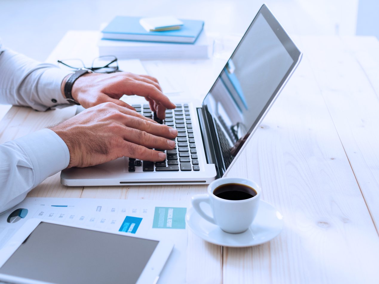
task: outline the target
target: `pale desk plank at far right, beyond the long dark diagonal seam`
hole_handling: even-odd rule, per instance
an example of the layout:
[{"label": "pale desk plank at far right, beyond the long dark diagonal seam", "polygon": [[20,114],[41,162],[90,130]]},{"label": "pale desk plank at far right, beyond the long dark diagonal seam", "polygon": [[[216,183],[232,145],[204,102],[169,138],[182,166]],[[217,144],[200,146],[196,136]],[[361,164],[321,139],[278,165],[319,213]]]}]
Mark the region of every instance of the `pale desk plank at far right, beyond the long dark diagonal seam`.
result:
[{"label": "pale desk plank at far right, beyond the long dark diagonal seam", "polygon": [[[303,39],[346,155],[379,229],[379,42],[375,37]],[[330,68],[333,62],[333,68]]]}]

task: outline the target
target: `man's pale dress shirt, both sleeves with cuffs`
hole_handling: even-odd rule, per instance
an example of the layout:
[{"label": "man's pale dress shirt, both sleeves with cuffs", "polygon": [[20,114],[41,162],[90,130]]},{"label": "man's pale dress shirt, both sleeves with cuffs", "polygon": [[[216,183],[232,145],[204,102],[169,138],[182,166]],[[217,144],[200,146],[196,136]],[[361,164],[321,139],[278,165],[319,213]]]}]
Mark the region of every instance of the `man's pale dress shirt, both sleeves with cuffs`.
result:
[{"label": "man's pale dress shirt, both sleeves with cuffs", "polygon": [[[45,111],[66,104],[61,83],[67,71],[2,47],[0,103]],[[21,202],[47,177],[63,170],[70,154],[63,140],[43,129],[0,145],[0,214]]]}]

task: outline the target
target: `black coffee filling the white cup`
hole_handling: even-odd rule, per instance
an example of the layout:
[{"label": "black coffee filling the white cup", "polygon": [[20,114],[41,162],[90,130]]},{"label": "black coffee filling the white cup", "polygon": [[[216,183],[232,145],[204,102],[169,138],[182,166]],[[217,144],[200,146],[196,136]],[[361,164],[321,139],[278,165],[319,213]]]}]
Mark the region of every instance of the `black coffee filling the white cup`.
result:
[{"label": "black coffee filling the white cup", "polygon": [[254,188],[240,183],[227,183],[216,187],[213,194],[227,200],[244,200],[257,195]]}]

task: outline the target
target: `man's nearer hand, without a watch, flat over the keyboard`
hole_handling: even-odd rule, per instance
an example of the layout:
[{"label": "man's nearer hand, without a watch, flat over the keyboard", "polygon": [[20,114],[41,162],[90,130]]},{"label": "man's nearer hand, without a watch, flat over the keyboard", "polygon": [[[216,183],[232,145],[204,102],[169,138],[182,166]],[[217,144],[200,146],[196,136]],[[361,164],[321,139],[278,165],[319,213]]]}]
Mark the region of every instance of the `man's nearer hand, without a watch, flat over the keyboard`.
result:
[{"label": "man's nearer hand, without a watch, flat over the keyboard", "polygon": [[120,157],[163,161],[172,150],[178,131],[144,117],[136,111],[102,103],[50,127],[66,143],[68,167],[88,167]]}]

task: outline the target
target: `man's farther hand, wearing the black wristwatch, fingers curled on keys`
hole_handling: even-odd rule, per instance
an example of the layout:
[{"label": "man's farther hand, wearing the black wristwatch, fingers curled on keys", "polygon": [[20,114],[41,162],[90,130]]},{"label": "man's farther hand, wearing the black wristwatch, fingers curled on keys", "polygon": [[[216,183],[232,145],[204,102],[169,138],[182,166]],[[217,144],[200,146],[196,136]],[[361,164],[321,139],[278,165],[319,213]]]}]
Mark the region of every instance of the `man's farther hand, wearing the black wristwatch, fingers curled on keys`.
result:
[{"label": "man's farther hand, wearing the black wristwatch, fingers curled on keys", "polygon": [[[66,80],[67,78],[63,86]],[[148,75],[136,75],[129,72],[89,73],[79,77],[72,86],[72,97],[84,108],[110,101],[133,109],[119,100],[124,94],[145,97],[151,110],[157,112],[160,119],[165,118],[166,109],[175,108],[169,98],[162,93],[158,80]]]}]

